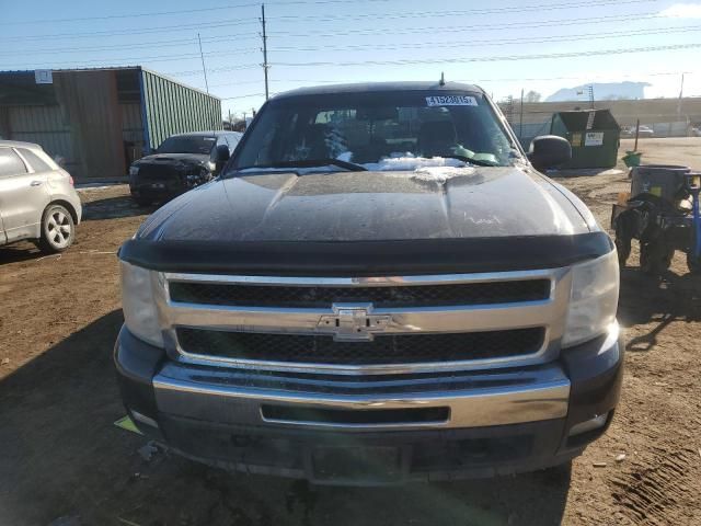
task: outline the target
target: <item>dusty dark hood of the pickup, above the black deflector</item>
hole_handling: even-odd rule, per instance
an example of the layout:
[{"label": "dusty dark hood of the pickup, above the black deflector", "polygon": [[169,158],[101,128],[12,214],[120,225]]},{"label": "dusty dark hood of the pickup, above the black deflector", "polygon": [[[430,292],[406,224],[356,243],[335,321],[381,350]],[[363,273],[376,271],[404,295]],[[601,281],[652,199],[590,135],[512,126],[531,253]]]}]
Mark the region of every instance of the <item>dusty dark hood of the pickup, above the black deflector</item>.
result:
[{"label": "dusty dark hood of the pickup, above the black deflector", "polygon": [[221,179],[157,210],[139,239],[386,241],[571,236],[598,230],[529,167],[267,172]]}]

